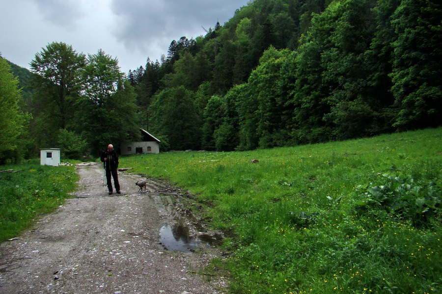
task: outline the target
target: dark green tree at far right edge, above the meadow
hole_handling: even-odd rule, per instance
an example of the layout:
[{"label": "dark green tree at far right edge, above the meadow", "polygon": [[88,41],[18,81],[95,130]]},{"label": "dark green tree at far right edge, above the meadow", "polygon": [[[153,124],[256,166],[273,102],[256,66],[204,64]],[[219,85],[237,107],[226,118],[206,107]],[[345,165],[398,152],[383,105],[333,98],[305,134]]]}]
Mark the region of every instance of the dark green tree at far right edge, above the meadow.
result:
[{"label": "dark green tree at far right edge, above the meadow", "polygon": [[442,3],[403,0],[393,14],[392,92],[400,129],[441,125]]}]

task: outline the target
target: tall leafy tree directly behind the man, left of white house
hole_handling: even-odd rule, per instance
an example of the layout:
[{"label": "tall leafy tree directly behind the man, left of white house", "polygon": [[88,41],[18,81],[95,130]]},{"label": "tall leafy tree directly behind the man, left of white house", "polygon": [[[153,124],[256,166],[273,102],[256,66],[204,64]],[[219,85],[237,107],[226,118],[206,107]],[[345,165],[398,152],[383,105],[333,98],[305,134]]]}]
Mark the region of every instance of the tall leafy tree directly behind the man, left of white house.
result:
[{"label": "tall leafy tree directly behind the man, left of white house", "polygon": [[100,49],[89,54],[84,75],[86,90],[78,104],[76,130],[92,152],[139,137],[134,89],[123,79],[118,60]]}]

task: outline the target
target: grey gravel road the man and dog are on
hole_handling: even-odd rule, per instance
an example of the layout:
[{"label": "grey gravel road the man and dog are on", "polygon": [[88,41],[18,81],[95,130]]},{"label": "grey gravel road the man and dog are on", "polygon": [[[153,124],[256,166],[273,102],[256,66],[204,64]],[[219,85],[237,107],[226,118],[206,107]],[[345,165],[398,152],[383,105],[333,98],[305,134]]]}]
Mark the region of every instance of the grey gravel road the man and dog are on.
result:
[{"label": "grey gravel road the man and dog are on", "polygon": [[215,249],[185,253],[159,243],[160,228],[186,201],[180,190],[148,180],[138,192],[140,176],[119,172],[122,194],[108,195],[101,164],[77,172],[74,198],[0,245],[0,294],[225,293],[222,277],[204,274]]}]

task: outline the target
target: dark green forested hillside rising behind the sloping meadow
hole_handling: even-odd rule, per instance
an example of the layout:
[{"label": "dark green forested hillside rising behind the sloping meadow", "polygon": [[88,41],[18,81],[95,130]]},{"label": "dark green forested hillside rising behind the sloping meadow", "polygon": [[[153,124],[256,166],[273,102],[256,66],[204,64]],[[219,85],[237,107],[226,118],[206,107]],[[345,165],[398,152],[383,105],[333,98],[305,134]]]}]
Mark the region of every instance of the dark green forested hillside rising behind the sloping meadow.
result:
[{"label": "dark green forested hillside rising behind the sloping meadow", "polygon": [[441,124],[436,0],[255,0],[129,73],[173,149],[245,150]]}]

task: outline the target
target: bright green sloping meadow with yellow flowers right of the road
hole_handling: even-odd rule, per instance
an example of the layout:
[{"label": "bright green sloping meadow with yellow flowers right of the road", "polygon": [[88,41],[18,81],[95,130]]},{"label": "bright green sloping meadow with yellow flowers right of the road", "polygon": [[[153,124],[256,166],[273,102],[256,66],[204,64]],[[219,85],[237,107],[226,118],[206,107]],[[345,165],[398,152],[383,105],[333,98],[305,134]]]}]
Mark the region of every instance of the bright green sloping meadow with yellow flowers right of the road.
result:
[{"label": "bright green sloping meadow with yellow flowers right of the road", "polygon": [[442,292],[442,128],[120,167],[190,190],[228,232],[230,293]]}]

